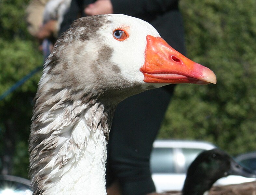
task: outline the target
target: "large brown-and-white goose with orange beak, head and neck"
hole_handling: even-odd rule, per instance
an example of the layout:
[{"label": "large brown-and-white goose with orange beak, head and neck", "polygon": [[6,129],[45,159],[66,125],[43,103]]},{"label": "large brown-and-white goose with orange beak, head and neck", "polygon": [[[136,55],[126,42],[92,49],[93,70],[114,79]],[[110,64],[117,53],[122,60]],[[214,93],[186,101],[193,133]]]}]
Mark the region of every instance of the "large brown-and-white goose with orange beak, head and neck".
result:
[{"label": "large brown-and-white goose with orange beak, head and neck", "polygon": [[116,105],[174,83],[215,84],[216,76],[141,19],[113,14],[75,20],[47,58],[35,96],[29,137],[33,195],[105,195]]}]

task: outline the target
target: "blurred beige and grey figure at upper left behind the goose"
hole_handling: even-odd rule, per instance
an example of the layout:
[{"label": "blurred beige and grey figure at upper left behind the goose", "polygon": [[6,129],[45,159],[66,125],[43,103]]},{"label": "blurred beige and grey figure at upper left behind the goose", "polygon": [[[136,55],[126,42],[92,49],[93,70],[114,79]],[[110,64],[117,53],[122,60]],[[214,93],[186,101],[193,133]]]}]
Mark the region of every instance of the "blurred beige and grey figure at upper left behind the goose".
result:
[{"label": "blurred beige and grey figure at upper left behind the goose", "polygon": [[60,24],[71,0],[32,0],[26,9],[28,31],[39,41],[46,59],[57,40]]}]

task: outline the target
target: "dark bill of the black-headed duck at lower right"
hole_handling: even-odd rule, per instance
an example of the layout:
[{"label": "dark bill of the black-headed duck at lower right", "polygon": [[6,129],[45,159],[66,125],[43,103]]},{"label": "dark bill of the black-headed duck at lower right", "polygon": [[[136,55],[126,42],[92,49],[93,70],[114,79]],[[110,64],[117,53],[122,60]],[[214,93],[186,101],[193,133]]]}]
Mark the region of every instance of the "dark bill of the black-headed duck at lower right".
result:
[{"label": "dark bill of the black-headed duck at lower right", "polygon": [[243,177],[256,177],[256,172],[245,168],[238,164],[235,161],[231,161],[230,170],[228,171],[228,175],[240,175]]}]

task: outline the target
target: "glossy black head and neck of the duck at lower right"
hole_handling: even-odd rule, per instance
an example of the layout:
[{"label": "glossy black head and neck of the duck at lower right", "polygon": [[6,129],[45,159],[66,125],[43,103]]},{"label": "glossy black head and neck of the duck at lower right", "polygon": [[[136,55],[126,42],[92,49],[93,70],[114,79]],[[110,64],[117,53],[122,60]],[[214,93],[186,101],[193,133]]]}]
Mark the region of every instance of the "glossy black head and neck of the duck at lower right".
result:
[{"label": "glossy black head and neck of the duck at lower right", "polygon": [[[205,150],[189,166],[182,191],[167,192],[165,195],[207,195],[218,179],[228,175],[255,178],[256,172],[241,166],[221,149]],[[218,186],[218,189],[220,188],[223,190],[226,186]]]}]

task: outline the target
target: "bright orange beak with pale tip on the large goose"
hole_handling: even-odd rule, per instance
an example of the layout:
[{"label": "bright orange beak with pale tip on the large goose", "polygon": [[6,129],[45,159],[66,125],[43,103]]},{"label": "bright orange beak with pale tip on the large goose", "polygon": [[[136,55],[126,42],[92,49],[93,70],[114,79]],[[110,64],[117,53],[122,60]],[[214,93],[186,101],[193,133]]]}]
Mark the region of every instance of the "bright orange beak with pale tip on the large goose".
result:
[{"label": "bright orange beak with pale tip on the large goose", "polygon": [[216,84],[215,74],[169,46],[161,37],[147,35],[145,63],[140,71],[146,83]]}]

